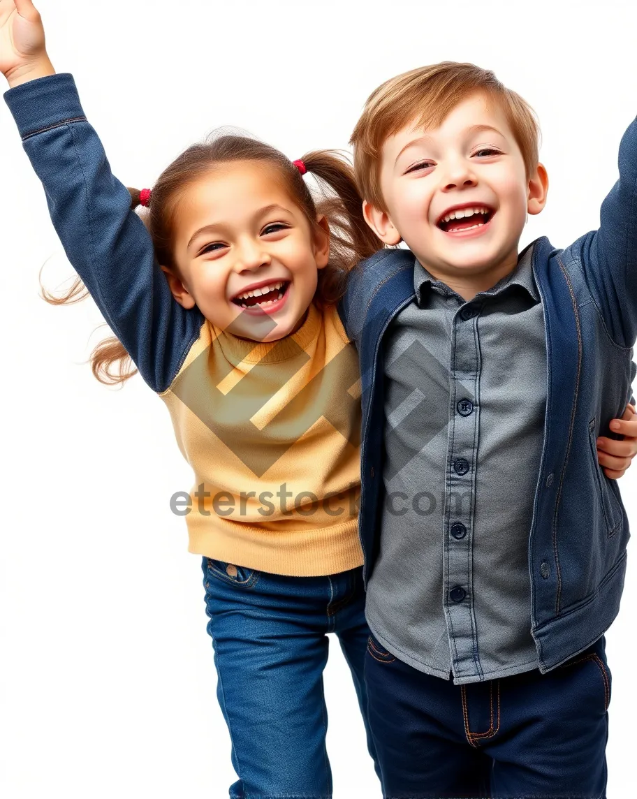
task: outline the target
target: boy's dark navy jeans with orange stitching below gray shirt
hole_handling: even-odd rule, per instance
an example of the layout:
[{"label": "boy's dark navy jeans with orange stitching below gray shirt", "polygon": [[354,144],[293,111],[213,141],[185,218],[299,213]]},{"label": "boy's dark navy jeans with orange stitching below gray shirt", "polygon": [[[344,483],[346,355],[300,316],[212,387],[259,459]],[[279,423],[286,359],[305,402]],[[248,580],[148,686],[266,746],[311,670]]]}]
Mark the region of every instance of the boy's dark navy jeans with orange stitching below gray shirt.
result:
[{"label": "boy's dark navy jeans with orange stitching below gray shirt", "polygon": [[604,638],[562,666],[456,686],[370,636],[369,724],[388,799],[603,799]]}]

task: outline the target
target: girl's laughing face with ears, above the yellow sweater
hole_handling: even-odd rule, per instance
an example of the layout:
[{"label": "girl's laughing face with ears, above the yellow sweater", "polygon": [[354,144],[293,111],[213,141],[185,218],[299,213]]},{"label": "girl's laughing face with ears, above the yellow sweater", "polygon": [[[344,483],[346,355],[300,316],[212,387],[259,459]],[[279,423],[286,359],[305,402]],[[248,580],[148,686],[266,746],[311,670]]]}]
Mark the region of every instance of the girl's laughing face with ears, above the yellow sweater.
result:
[{"label": "girl's laughing face with ears, above the yellow sweater", "polygon": [[328,226],[321,218],[312,228],[272,165],[215,165],[185,189],[173,235],[179,274],[162,268],[185,308],[254,341],[301,327],[328,263]]}]

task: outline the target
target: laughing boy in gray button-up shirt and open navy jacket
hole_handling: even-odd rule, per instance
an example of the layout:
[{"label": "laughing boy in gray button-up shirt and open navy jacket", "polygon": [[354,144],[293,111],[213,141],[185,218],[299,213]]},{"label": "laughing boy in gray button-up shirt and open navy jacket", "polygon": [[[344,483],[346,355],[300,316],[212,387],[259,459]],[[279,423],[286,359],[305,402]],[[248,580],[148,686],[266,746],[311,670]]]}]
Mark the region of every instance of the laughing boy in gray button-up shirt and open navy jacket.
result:
[{"label": "laughing boy in gray button-up shirt and open navy jacket", "polygon": [[635,377],[637,122],[599,231],[519,253],[547,197],[537,138],[521,97],[452,62],[381,85],[352,134],[368,224],[409,248],[344,301],[387,797],[606,786],[603,633],[629,532],[595,438]]}]

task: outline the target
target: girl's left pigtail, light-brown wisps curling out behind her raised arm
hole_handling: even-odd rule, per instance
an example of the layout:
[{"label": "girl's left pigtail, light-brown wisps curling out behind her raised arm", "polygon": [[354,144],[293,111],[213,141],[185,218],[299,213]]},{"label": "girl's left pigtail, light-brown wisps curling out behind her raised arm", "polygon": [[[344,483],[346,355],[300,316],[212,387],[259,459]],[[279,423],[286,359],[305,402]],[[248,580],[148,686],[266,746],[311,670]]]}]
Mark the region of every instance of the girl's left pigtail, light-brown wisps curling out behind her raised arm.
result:
[{"label": "girl's left pigtail, light-brown wisps curling out behind her raised arm", "polygon": [[[141,205],[139,199],[139,189],[129,189],[130,193],[130,208],[134,210],[138,205]],[[42,267],[43,268],[43,267]],[[45,302],[50,305],[72,305],[77,302],[86,300],[89,296],[89,290],[84,285],[81,277],[76,277],[71,284],[70,289],[66,294],[54,295],[44,287],[41,280],[42,269],[38,275],[38,283],[40,284],[40,296]],[[89,359],[85,363],[91,365],[91,371],[94,377],[100,383],[105,385],[117,385],[124,383],[129,377],[133,377],[139,371],[133,366],[133,359],[129,356],[126,348],[117,336],[109,336],[97,344],[91,352]],[[117,364],[116,371],[113,371],[113,364]]]}]

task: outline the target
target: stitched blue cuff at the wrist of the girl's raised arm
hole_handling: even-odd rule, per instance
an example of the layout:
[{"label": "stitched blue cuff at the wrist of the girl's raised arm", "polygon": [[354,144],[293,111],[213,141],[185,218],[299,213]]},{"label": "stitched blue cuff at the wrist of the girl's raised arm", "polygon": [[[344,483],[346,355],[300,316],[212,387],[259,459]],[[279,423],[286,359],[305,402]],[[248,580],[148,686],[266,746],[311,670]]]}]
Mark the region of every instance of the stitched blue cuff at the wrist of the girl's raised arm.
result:
[{"label": "stitched blue cuff at the wrist of the girl's raised arm", "polygon": [[3,94],[22,140],[34,133],[86,119],[73,75],[62,72],[26,81]]}]

